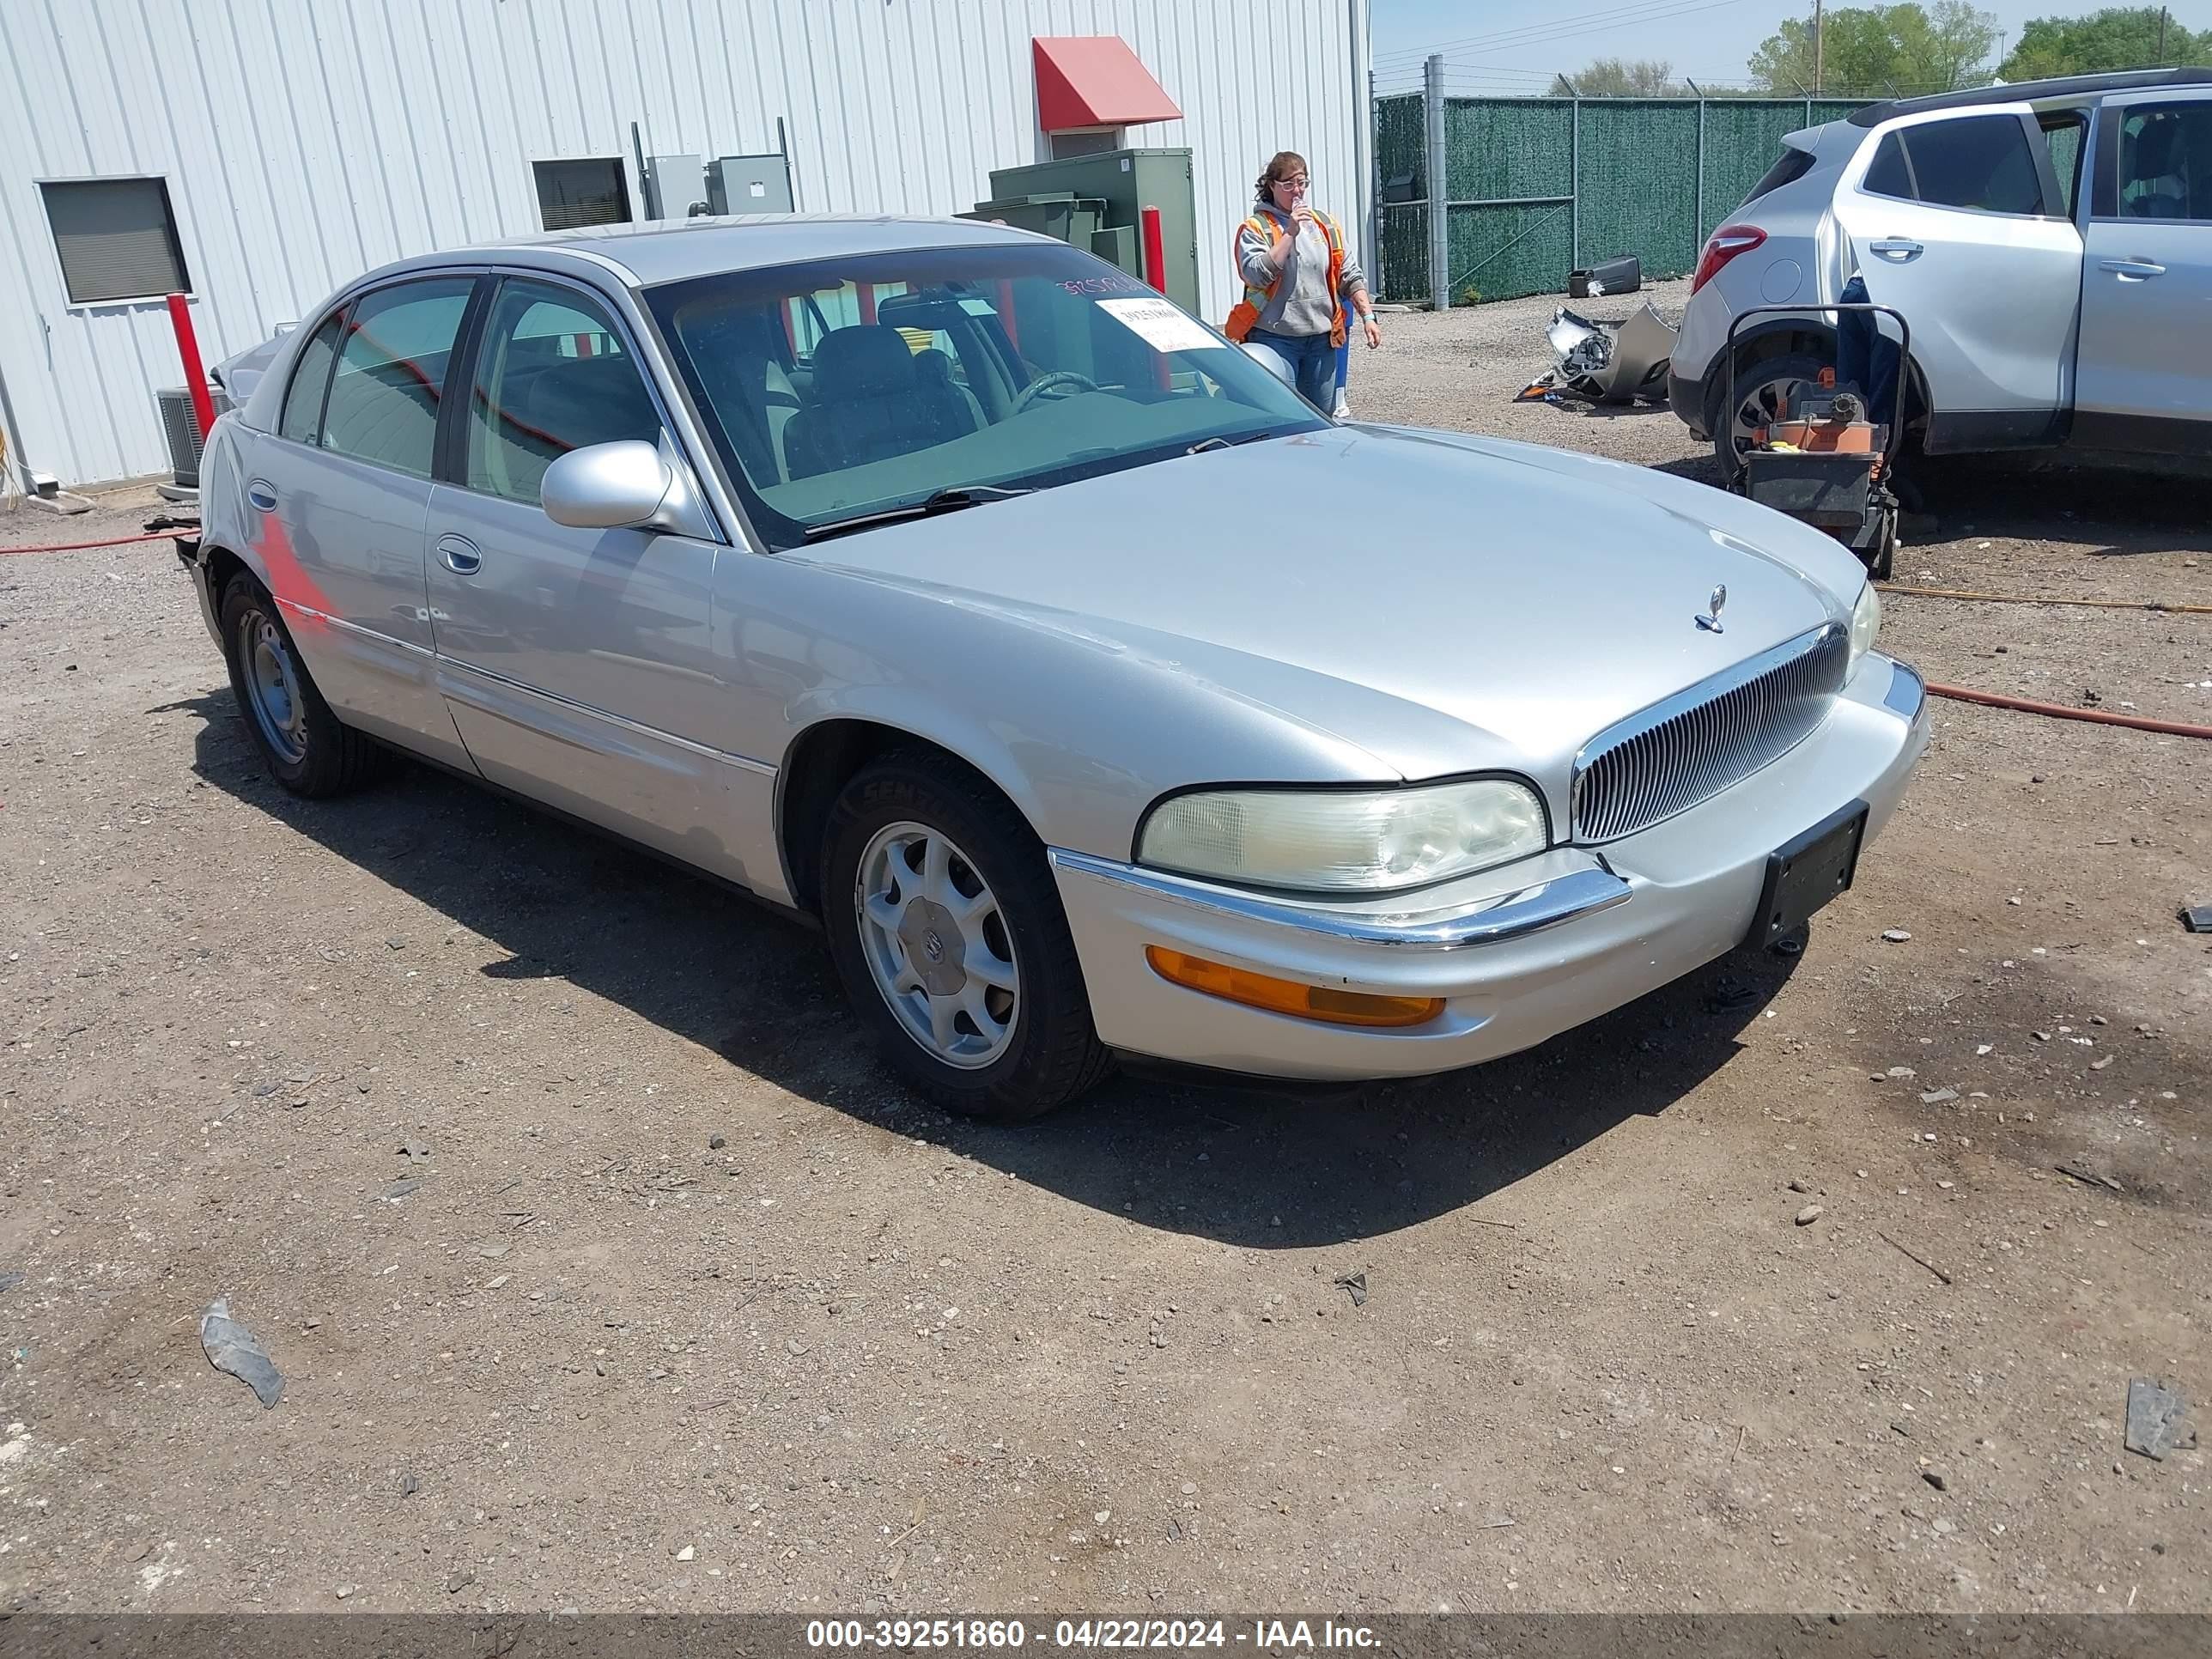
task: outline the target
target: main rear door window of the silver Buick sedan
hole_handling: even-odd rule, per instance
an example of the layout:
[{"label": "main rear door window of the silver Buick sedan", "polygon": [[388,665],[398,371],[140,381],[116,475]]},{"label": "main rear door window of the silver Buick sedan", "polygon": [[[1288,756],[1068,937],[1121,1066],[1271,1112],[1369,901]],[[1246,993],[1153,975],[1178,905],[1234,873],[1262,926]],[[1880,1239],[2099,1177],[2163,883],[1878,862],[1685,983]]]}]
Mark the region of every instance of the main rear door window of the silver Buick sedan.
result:
[{"label": "main rear door window of the silver Buick sedan", "polygon": [[323,449],[429,478],[438,400],[473,276],[378,288],[345,319]]}]

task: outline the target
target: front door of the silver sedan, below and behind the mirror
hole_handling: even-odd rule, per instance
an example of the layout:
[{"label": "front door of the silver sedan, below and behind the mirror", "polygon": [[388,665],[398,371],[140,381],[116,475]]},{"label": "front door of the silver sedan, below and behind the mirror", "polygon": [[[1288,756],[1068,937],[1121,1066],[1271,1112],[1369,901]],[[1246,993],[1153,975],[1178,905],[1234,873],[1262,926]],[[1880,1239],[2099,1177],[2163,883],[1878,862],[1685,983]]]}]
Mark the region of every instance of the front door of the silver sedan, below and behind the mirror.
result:
[{"label": "front door of the silver sedan, below and behind the mirror", "polygon": [[562,281],[504,279],[451,482],[429,500],[438,684],[493,783],[757,883],[728,832],[768,803],[772,768],[726,750],[710,595],[728,549],[568,529],[538,504],[555,458],[622,438],[684,467],[606,305]]}]

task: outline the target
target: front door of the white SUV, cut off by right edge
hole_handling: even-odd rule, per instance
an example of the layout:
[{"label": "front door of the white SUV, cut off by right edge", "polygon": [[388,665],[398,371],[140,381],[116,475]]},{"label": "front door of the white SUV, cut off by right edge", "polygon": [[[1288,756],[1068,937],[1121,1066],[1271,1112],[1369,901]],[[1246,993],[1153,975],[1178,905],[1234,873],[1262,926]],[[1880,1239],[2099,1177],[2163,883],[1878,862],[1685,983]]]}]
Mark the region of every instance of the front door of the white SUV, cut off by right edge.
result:
[{"label": "front door of the white SUV, cut off by right edge", "polygon": [[2212,453],[2212,93],[2099,113],[2075,442]]}]

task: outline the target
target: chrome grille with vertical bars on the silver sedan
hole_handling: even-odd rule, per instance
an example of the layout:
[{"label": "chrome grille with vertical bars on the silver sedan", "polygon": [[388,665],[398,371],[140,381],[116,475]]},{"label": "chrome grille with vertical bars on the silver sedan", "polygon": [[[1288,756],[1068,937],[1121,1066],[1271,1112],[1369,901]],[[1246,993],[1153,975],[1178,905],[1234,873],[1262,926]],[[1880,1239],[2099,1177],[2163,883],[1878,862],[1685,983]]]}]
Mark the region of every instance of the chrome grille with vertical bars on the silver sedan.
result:
[{"label": "chrome grille with vertical bars on the silver sedan", "polygon": [[1599,732],[1575,759],[1575,838],[1632,836],[1778,761],[1827,719],[1849,657],[1829,624]]}]

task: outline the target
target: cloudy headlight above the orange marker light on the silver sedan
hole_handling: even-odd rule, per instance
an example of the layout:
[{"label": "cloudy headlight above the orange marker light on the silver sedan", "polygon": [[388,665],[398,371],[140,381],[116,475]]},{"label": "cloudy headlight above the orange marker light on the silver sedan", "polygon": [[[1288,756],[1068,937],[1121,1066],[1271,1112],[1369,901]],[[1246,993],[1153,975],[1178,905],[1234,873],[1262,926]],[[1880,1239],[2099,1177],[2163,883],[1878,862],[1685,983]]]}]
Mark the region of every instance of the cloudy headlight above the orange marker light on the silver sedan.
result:
[{"label": "cloudy headlight above the orange marker light on the silver sedan", "polygon": [[1544,803],[1506,779],[1413,790],[1210,790],[1155,807],[1137,860],[1245,887],[1389,894],[1524,858],[1546,843]]}]

